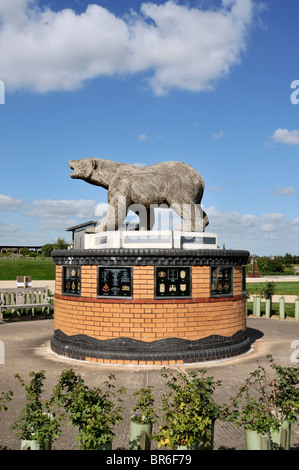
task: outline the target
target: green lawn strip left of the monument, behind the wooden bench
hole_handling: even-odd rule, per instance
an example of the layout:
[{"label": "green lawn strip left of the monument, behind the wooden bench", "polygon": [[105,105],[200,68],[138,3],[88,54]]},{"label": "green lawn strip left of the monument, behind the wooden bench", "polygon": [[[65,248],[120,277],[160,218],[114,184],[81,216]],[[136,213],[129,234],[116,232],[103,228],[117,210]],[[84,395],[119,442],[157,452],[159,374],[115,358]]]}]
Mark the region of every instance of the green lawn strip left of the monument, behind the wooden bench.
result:
[{"label": "green lawn strip left of the monument, behind the wooden bench", "polygon": [[17,276],[52,281],[55,280],[55,265],[52,258],[0,258],[0,281],[15,281]]}]

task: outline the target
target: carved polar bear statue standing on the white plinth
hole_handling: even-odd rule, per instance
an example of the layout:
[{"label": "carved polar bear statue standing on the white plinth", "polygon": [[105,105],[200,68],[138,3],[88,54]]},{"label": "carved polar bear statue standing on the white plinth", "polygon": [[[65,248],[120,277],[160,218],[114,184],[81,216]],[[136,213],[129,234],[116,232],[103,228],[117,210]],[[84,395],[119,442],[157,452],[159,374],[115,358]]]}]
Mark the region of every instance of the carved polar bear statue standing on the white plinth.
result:
[{"label": "carved polar bear statue standing on the white plinth", "polygon": [[[202,176],[183,162],[163,162],[137,167],[100,158],[71,160],[70,176],[108,190],[108,210],[97,231],[117,230],[129,210],[140,217],[140,230],[151,230],[153,209],[171,207],[179,214],[185,231],[203,232],[208,217],[200,203]],[[145,210],[145,216],[143,209]]]}]

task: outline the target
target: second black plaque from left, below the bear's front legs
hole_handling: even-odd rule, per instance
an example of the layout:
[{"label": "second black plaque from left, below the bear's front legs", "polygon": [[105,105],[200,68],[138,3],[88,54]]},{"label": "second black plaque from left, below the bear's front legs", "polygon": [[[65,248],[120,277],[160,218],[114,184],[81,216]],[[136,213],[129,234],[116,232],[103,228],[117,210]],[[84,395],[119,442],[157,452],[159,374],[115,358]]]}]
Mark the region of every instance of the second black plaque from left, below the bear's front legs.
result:
[{"label": "second black plaque from left, below the bear's front legs", "polygon": [[131,267],[99,267],[99,297],[132,297]]}]

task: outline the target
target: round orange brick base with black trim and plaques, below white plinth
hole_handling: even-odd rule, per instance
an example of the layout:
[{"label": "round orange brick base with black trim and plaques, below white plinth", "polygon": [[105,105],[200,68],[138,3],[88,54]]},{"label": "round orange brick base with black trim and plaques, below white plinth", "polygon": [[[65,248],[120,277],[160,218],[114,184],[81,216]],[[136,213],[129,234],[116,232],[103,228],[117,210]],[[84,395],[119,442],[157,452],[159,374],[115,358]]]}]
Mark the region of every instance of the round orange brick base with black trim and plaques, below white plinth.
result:
[{"label": "round orange brick base with black trim and plaques, below white plinth", "polygon": [[51,348],[61,356],[170,365],[231,358],[250,349],[247,251],[84,249],[52,256]]}]

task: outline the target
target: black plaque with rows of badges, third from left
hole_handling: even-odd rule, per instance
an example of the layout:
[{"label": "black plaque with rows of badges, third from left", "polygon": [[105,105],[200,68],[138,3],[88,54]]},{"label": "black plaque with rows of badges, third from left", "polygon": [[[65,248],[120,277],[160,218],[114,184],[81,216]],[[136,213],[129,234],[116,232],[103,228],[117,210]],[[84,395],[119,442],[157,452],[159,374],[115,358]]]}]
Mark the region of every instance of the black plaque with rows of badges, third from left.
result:
[{"label": "black plaque with rows of badges, third from left", "polygon": [[156,267],[155,297],[191,297],[191,268]]}]

